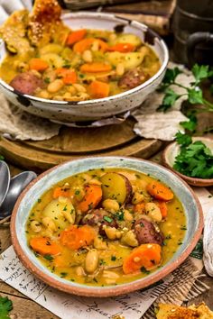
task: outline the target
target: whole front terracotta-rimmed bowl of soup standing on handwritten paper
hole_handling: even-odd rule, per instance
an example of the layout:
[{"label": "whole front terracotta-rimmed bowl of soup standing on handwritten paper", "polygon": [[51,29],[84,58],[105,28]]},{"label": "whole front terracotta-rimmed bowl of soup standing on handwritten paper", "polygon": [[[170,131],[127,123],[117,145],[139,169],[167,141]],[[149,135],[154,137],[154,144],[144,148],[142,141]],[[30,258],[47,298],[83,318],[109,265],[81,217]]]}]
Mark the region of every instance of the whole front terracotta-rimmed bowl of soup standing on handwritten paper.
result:
[{"label": "whole front terracotta-rimmed bowl of soup standing on handwritten paper", "polygon": [[150,286],[199,240],[202,210],[190,187],[146,160],[96,157],[43,173],[12,214],[14,250],[52,287],[118,296]]}]

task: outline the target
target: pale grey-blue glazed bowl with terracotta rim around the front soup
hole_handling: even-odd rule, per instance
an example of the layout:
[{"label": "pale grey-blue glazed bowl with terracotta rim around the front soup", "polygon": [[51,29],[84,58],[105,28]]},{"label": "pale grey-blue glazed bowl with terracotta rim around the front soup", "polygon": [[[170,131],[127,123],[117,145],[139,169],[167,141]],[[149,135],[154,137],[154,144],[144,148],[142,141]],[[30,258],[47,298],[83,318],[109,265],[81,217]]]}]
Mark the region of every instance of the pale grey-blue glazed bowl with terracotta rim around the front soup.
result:
[{"label": "pale grey-blue glazed bowl with terracotta rim around the front soup", "polygon": [[[171,260],[147,277],[117,286],[88,287],[60,278],[42,266],[42,263],[36,259],[27,244],[24,225],[35,201],[52,185],[73,174],[78,174],[88,169],[100,168],[134,169],[150,174],[154,178],[161,179],[162,182],[171,187],[176,196],[181,200],[188,227],[182,245],[179,250],[175,252]],[[27,269],[30,269],[35,276],[52,287],[79,296],[97,297],[123,295],[147,287],[165,277],[189,256],[199,240],[202,228],[203,215],[199,200],[181,178],[174,175],[169,169],[164,169],[162,166],[150,161],[121,157],[91,157],[73,160],[47,170],[33,180],[30,186],[23,191],[23,194],[14,206],[11,220],[11,236],[14,250]]]}]

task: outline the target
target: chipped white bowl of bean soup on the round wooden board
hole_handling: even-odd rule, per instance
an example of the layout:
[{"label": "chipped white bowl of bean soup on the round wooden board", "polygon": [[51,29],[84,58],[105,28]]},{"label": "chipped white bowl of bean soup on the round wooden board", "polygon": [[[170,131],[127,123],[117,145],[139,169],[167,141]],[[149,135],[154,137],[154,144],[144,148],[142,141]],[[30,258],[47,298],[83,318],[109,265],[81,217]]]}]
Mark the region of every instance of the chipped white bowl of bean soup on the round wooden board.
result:
[{"label": "chipped white bowl of bean soup on the round wooden board", "polygon": [[[38,44],[29,17],[25,10],[14,13],[0,43],[0,88],[26,112],[63,123],[107,118],[141,105],[162,81],[168,50],[143,23],[113,14],[63,14],[59,30],[52,32],[51,24],[51,36]],[[9,37],[13,21],[22,22],[19,46]]]}]

